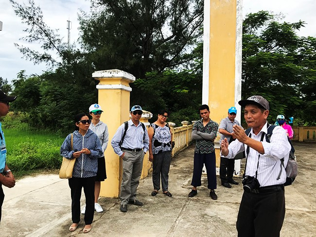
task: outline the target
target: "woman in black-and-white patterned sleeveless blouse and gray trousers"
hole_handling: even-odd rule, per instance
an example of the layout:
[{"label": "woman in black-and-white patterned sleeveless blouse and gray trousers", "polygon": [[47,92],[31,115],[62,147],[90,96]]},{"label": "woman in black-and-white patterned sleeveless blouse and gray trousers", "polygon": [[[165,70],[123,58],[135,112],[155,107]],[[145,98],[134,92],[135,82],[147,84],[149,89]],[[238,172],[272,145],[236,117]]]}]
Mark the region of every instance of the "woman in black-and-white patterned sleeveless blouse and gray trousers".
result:
[{"label": "woman in black-and-white patterned sleeveless blouse and gray trousers", "polygon": [[169,169],[171,162],[172,151],[172,135],[170,127],[166,120],[168,118],[168,111],[161,110],[158,113],[156,122],[150,124],[148,128],[149,135],[149,161],[153,162],[153,185],[154,191],[152,196],[156,196],[160,189],[160,175],[161,186],[163,194],[172,197],[168,191]]}]

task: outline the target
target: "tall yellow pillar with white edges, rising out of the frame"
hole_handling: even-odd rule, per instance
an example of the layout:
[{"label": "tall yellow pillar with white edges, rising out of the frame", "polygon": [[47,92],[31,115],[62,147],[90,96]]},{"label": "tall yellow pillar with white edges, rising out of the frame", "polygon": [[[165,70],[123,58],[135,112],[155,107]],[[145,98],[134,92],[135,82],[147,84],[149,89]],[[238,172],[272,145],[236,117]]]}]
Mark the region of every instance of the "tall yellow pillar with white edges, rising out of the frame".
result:
[{"label": "tall yellow pillar with white edges, rising out of the frame", "polygon": [[[227,117],[231,106],[237,108],[236,118],[240,121],[242,26],[242,0],[204,1],[202,103],[210,106],[210,117],[218,124]],[[220,134],[217,136],[219,166]],[[240,172],[239,161],[235,170]]]}]

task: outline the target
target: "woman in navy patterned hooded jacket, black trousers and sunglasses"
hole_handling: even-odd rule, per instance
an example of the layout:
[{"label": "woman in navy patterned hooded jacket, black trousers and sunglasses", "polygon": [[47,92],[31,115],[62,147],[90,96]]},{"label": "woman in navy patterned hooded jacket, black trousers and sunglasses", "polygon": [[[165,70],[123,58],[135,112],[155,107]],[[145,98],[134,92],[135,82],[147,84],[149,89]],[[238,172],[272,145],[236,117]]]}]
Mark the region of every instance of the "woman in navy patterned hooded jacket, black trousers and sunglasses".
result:
[{"label": "woman in navy patterned hooded jacket, black trousers and sunglasses", "polygon": [[74,117],[76,130],[61,145],[60,154],[67,159],[76,159],[69,179],[71,189],[72,224],[69,230],[75,231],[80,221],[80,197],[82,188],[86,196],[85,227],[83,233],[91,230],[94,214],[94,181],[98,169],[98,157],[103,156],[102,146],[98,136],[89,129],[91,120],[84,113]]}]

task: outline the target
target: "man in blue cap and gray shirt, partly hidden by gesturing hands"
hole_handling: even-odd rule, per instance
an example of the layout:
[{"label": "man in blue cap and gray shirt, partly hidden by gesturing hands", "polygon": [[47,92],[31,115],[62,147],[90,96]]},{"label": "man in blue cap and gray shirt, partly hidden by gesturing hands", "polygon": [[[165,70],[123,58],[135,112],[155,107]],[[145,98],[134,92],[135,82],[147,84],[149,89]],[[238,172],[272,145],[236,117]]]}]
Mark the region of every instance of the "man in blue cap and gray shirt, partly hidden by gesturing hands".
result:
[{"label": "man in blue cap and gray shirt, partly hidden by gesturing hands", "polygon": [[[228,116],[225,119],[222,119],[221,124],[219,125],[218,132],[221,134],[221,139],[219,144],[221,144],[222,140],[226,137],[228,142],[231,143],[236,139],[233,135],[232,127],[234,124],[241,126],[239,121],[236,118],[237,109],[236,107],[230,107],[228,109]],[[221,157],[221,164],[219,168],[219,177],[221,179],[222,186],[231,187],[230,184],[238,185],[238,182],[232,179],[233,173],[235,169],[235,160],[228,159],[225,157]],[[230,184],[229,184],[230,183]]]}]

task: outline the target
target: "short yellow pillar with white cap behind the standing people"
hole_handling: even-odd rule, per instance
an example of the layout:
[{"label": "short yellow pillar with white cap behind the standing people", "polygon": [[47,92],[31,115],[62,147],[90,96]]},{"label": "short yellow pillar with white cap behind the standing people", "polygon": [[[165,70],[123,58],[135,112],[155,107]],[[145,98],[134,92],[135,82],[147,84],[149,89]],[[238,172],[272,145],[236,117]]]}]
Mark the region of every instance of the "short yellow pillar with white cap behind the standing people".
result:
[{"label": "short yellow pillar with white cap behind the standing people", "polygon": [[105,113],[101,120],[107,124],[109,141],[105,150],[105,167],[107,179],[101,182],[100,196],[117,198],[120,193],[122,165],[121,159],[114,153],[111,140],[118,127],[129,119],[129,97],[132,88],[129,83],[135,81],[135,77],[122,70],[95,71],[92,77],[99,80],[97,89],[99,92],[98,103]]}]

